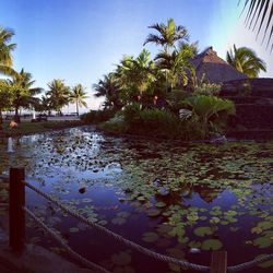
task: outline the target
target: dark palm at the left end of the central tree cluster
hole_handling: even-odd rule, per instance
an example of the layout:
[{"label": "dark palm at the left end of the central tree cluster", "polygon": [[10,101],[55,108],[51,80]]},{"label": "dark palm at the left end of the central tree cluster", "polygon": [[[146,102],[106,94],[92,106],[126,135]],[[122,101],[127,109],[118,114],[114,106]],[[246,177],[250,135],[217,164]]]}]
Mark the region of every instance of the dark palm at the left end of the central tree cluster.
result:
[{"label": "dark palm at the left end of the central tree cluster", "polygon": [[119,97],[120,87],[114,73],[104,75],[97,84],[93,84],[93,88],[96,92],[95,97],[105,97],[104,106],[106,108],[120,109],[122,107]]}]

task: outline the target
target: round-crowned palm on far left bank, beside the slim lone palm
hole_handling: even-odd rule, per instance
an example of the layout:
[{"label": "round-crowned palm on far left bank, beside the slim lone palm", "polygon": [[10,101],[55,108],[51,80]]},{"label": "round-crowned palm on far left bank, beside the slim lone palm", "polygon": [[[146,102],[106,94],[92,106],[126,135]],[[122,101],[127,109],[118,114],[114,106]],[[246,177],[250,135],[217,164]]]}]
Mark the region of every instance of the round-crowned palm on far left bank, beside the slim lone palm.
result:
[{"label": "round-crowned palm on far left bank, beside the slim lone palm", "polygon": [[46,92],[46,96],[49,99],[51,109],[55,109],[61,115],[61,108],[70,103],[71,92],[64,84],[63,80],[54,80],[47,84],[49,91]]}]

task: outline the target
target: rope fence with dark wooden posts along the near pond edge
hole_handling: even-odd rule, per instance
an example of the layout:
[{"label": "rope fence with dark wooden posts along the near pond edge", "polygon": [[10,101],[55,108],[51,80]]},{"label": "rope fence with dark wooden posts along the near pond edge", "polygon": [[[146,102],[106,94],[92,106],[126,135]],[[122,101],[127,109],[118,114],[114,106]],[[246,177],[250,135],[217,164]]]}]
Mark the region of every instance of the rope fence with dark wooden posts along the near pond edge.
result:
[{"label": "rope fence with dark wooden posts along the near pond edge", "polygon": [[[104,269],[104,268],[88,261],[87,259],[85,259],[81,254],[73,251],[66,244],[66,241],[58,234],[56,234],[56,232],[54,232],[50,227],[45,225],[34,213],[32,213],[27,207],[25,207],[25,200],[24,200],[24,197],[25,197],[24,188],[25,188],[25,186],[28,187],[34,192],[36,192],[37,194],[45,198],[46,200],[48,200],[51,203],[59,206],[67,214],[73,216],[74,218],[76,218],[80,222],[88,225],[90,227],[94,227],[96,230],[100,232],[102,234],[107,235],[107,236],[114,238],[115,240],[122,242],[127,247],[130,247],[130,248],[139,251],[140,253],[149,256],[150,258],[152,258],[154,260],[157,260],[157,261],[161,261],[161,262],[166,262],[166,263],[177,264],[180,268],[182,268],[183,270],[194,270],[194,271],[211,272],[211,273],[214,273],[214,272],[218,272],[218,273],[239,272],[239,271],[244,271],[246,269],[250,269],[250,268],[252,268],[252,266],[254,266],[254,265],[257,265],[259,263],[266,262],[266,261],[273,259],[273,253],[272,253],[272,254],[268,254],[268,256],[263,256],[263,257],[253,259],[253,260],[251,260],[249,262],[245,262],[245,263],[237,264],[237,265],[232,265],[232,266],[226,266],[226,252],[225,251],[216,251],[216,252],[213,252],[213,253],[217,253],[215,256],[215,261],[214,261],[214,259],[212,259],[211,266],[205,266],[205,265],[200,265],[200,264],[178,260],[178,259],[173,258],[173,257],[168,257],[168,256],[165,256],[165,254],[157,253],[157,252],[155,252],[153,250],[150,250],[147,248],[144,248],[144,247],[142,247],[142,246],[129,240],[129,239],[123,238],[121,235],[118,235],[118,234],[109,230],[108,228],[96,224],[95,222],[92,222],[92,221],[83,217],[76,211],[63,205],[56,198],[51,197],[48,193],[45,193],[45,192],[40,191],[39,189],[35,188],[33,185],[28,183],[27,181],[24,181],[24,171],[22,169],[11,168],[11,170],[10,170],[10,187],[11,187],[10,194],[17,193],[17,200],[16,200],[15,203],[13,201],[14,197],[12,197],[12,195],[10,197],[10,206],[11,206],[10,211],[11,211],[11,213],[13,212],[14,214],[17,214],[19,212],[22,211],[21,212],[22,215],[20,214],[21,216],[19,217],[19,219],[23,221],[23,223],[25,221],[24,219],[24,213],[29,215],[39,226],[43,227],[44,230],[46,230],[54,239],[56,239],[60,245],[62,245],[62,247],[72,257],[78,259],[80,262],[82,262],[87,268],[90,268],[92,270],[95,270],[95,272],[109,273],[106,269]],[[17,201],[20,201],[20,202],[17,202]],[[12,202],[13,202],[13,204],[12,204]],[[12,209],[12,206],[14,206],[14,207]],[[20,226],[20,228],[22,228],[22,230],[21,230],[21,234],[17,235],[17,234],[15,234],[15,230],[16,230],[16,233],[19,230],[17,223],[16,223],[16,226],[14,226],[14,223],[12,222],[11,218],[12,218],[12,216],[10,217],[10,245],[11,245],[11,247],[13,247],[16,250],[22,250],[23,245],[24,245],[23,238],[24,238],[24,233],[25,233],[24,232],[25,224],[22,224]],[[11,238],[12,236],[15,236],[16,238],[12,239]],[[222,264],[222,266],[219,266],[221,264]],[[224,264],[224,266],[223,266],[223,264]],[[221,270],[219,270],[219,268],[221,268]]]}]

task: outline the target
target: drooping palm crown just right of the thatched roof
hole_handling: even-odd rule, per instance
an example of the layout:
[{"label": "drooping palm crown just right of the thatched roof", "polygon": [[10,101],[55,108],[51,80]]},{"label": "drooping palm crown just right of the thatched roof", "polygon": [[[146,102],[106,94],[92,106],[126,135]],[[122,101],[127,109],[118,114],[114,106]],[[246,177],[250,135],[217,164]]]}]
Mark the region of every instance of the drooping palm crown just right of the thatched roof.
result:
[{"label": "drooping palm crown just right of the thatched roof", "polygon": [[230,66],[249,78],[258,78],[261,70],[266,72],[264,61],[258,58],[257,54],[248,47],[236,48],[234,45],[234,49],[227,51],[226,60]]}]

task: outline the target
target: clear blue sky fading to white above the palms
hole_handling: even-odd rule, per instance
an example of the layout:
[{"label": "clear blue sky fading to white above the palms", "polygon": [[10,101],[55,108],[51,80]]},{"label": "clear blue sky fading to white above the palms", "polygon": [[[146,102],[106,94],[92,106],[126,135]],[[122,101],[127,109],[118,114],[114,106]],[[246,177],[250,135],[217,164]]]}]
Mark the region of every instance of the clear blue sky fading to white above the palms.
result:
[{"label": "clear blue sky fading to white above the palms", "polygon": [[[273,78],[273,55],[244,26],[241,9],[238,0],[0,0],[0,25],[15,32],[16,70],[31,72],[45,90],[54,79],[82,83],[88,106],[97,108],[102,100],[92,96],[92,84],[123,55],[138,56],[147,26],[169,17],[187,27],[201,50],[213,46],[222,58],[233,44],[253,48],[268,64],[261,76]],[[157,50],[146,48],[152,56]]]}]

